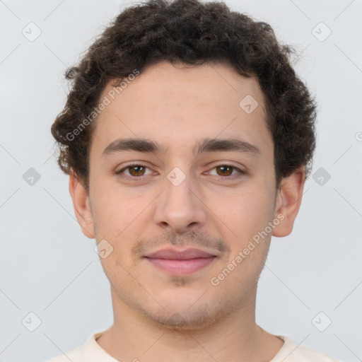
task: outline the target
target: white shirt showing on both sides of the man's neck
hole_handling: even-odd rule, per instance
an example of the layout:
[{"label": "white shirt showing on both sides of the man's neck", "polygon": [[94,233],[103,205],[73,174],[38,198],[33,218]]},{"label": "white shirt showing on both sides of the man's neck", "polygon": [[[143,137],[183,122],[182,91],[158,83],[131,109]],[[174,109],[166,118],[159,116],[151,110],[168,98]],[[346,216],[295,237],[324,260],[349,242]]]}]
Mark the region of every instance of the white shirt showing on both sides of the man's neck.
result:
[{"label": "white shirt showing on both sides of the man's neck", "polygon": [[[65,355],[52,358],[46,362],[119,362],[113,358],[95,341],[104,332],[92,334],[85,344]],[[339,362],[327,354],[298,346],[292,339],[286,336],[277,336],[284,340],[284,344],[279,352],[269,362]]]}]

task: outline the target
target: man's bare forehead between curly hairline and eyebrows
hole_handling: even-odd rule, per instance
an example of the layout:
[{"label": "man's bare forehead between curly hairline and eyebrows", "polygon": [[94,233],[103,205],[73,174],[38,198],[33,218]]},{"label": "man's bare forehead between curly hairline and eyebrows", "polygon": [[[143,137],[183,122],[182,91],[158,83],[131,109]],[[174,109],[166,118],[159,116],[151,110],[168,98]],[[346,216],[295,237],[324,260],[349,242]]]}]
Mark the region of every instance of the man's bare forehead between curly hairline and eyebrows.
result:
[{"label": "man's bare forehead between curly hairline and eyebrows", "polygon": [[[262,153],[272,151],[264,95],[256,78],[240,76],[226,64],[186,66],[162,62],[124,88],[109,82],[100,102],[91,152],[98,155],[119,137],[158,141],[168,151],[194,151],[199,139],[242,139]],[[116,91],[115,91],[116,90]],[[94,150],[93,150],[94,148]]]}]

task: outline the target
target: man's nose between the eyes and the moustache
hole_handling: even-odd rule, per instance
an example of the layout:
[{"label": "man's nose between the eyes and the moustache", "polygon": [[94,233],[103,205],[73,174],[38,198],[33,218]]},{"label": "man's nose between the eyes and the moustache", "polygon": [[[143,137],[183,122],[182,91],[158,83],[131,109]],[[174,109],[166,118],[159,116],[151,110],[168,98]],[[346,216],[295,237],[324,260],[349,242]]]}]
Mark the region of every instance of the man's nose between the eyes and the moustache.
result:
[{"label": "man's nose between the eyes and the moustache", "polygon": [[166,178],[165,189],[156,200],[154,221],[162,228],[173,230],[174,233],[185,233],[200,228],[206,221],[202,195],[197,192],[195,182],[189,175],[180,185],[173,182],[172,178]]}]

